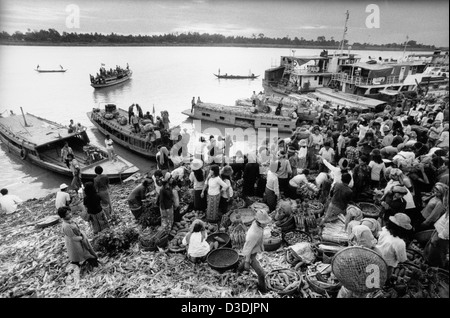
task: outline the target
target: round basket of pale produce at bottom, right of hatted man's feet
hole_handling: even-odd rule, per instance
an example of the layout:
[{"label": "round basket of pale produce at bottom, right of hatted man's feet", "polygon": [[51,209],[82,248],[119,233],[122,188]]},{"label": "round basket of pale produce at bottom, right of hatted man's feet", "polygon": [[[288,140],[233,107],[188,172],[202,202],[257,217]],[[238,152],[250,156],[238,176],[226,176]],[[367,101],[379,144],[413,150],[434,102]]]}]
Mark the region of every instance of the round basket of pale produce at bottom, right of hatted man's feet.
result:
[{"label": "round basket of pale produce at bottom, right of hatted man's feet", "polygon": [[292,269],[274,269],[266,274],[267,289],[278,293],[280,296],[295,294],[301,283],[300,274]]}]

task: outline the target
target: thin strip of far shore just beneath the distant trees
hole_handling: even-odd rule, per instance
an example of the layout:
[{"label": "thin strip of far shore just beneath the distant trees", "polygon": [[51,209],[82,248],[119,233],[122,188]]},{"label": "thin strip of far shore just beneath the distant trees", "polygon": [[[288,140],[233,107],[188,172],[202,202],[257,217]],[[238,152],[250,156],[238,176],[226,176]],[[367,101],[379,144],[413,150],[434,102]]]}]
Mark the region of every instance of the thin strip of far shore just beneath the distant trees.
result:
[{"label": "thin strip of far shore just beneath the distant trees", "polygon": [[[337,50],[334,46],[316,46],[316,45],[283,45],[283,44],[238,44],[238,43],[222,43],[222,44],[202,44],[202,43],[48,43],[48,42],[16,42],[16,41],[0,41],[0,45],[5,46],[55,46],[55,47],[242,47],[242,48],[288,48],[288,49],[317,49],[317,50]],[[431,52],[436,50],[447,50],[446,48],[409,48],[407,52],[420,51]],[[348,52],[348,50],[344,50]],[[363,48],[352,48],[350,51],[403,51],[402,48],[388,48],[367,46]]]}]

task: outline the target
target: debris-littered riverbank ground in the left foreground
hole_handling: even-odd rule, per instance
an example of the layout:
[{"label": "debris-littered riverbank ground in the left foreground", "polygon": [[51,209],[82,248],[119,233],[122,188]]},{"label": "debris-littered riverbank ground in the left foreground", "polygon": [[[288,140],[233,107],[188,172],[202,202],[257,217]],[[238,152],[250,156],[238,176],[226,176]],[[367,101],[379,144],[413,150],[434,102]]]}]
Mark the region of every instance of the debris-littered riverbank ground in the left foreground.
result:
[{"label": "debris-littered riverbank ground in the left foreground", "polygon": [[[114,210],[113,231],[143,228],[136,223],[126,198],[140,179],[111,186]],[[167,248],[143,251],[138,242],[115,256],[99,253],[100,266],[92,271],[82,269],[76,282],[61,233],[61,224],[38,229],[34,224],[55,215],[55,194],[28,200],[17,212],[0,216],[0,298],[233,298],[279,297],[257,291],[254,273],[219,274],[207,263],[194,265],[184,254],[170,253]],[[90,240],[93,233],[77,214],[74,221]],[[269,270],[279,266],[284,250],[263,253],[262,266]]]}]

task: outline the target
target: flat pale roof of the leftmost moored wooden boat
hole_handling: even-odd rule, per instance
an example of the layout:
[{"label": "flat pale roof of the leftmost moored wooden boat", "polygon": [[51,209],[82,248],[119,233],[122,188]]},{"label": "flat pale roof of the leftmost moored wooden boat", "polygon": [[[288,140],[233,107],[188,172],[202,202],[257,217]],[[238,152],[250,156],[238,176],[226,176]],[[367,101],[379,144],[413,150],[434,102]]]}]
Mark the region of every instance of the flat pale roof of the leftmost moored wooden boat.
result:
[{"label": "flat pale roof of the leftmost moored wooden boat", "polygon": [[24,141],[34,144],[35,147],[77,135],[76,132],[69,134],[68,127],[61,124],[29,113],[24,116],[27,125],[22,115],[10,115],[0,118],[0,126]]}]

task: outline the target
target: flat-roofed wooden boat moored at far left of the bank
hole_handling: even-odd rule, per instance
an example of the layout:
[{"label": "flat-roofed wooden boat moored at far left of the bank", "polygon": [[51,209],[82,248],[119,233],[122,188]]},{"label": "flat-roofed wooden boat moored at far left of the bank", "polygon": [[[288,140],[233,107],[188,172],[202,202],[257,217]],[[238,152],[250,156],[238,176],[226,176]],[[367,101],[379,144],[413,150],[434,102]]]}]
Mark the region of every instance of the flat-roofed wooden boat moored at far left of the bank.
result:
[{"label": "flat-roofed wooden boat moored at far left of the bank", "polygon": [[9,152],[23,160],[72,177],[60,157],[61,148],[68,142],[80,164],[83,181],[93,179],[99,165],[111,181],[125,179],[139,170],[120,156],[115,162],[109,160],[106,150],[89,143],[85,130],[69,133],[68,127],[28,113],[0,118],[0,139]]}]

